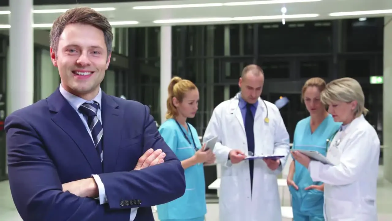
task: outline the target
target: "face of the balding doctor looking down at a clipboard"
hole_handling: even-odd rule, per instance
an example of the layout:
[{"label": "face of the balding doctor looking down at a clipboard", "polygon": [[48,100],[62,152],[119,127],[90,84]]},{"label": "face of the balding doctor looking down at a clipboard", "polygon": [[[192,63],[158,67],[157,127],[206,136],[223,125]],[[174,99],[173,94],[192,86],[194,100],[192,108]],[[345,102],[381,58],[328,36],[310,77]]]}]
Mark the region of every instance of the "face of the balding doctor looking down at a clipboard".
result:
[{"label": "face of the balding doctor looking down at a clipboard", "polygon": [[241,88],[241,96],[247,103],[256,103],[259,99],[264,85],[264,75],[245,74],[240,78],[238,85]]}]

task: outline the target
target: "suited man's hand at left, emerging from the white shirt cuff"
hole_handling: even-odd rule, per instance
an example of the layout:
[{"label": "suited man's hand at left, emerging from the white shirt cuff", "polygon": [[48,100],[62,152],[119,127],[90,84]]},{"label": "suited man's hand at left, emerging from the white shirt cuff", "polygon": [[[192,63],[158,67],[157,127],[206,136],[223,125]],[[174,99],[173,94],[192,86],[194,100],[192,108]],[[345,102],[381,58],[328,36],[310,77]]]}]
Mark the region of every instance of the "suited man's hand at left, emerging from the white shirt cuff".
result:
[{"label": "suited man's hand at left, emerging from the white shirt cuff", "polygon": [[62,184],[63,192],[69,191],[78,197],[98,197],[98,186],[94,178],[76,180]]}]

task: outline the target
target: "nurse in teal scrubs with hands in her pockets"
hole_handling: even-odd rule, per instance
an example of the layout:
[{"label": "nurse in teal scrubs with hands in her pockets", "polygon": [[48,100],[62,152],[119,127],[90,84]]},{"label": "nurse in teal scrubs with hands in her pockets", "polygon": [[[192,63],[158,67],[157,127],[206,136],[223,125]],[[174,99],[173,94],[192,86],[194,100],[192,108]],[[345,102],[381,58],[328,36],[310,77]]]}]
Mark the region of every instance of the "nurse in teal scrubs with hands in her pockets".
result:
[{"label": "nurse in teal scrubs with hands in her pockets", "polygon": [[[302,88],[302,99],[310,116],[297,123],[293,151],[318,151],[325,156],[328,141],[339,130],[341,123],[334,122],[320,101],[320,92],[325,86],[323,79],[313,77]],[[323,221],[324,184],[313,182],[307,168],[295,161],[290,164],[287,184],[292,195],[294,221]]]}]

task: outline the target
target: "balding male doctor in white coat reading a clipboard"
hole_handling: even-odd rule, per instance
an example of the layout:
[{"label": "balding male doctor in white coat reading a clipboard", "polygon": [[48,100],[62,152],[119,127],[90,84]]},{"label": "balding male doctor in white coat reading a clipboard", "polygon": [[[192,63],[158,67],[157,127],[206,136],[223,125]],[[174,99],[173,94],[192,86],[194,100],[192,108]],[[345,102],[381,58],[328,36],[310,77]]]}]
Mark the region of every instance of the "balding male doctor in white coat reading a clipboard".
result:
[{"label": "balding male doctor in white coat reading a clipboard", "polygon": [[[238,83],[241,92],[214,109],[203,136],[203,142],[218,136],[220,221],[281,221],[277,175],[289,155],[289,134],[278,108],[260,98],[263,84],[263,70],[246,66]],[[244,160],[252,153],[285,157]]]}]

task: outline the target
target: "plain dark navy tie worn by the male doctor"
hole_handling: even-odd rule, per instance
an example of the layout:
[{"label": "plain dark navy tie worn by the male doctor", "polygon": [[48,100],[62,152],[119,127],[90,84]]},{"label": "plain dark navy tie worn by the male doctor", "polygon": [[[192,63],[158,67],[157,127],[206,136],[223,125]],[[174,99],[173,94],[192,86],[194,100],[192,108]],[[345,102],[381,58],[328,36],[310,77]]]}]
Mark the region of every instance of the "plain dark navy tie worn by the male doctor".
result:
[{"label": "plain dark navy tie worn by the male doctor", "polygon": [[[245,114],[245,133],[248,142],[248,151],[252,151],[252,153],[254,153],[254,132],[253,132],[254,118],[250,107],[252,107],[252,104],[247,103],[246,114]],[[252,191],[252,187],[253,187],[253,168],[254,168],[254,161],[249,160],[250,191]]]}]

